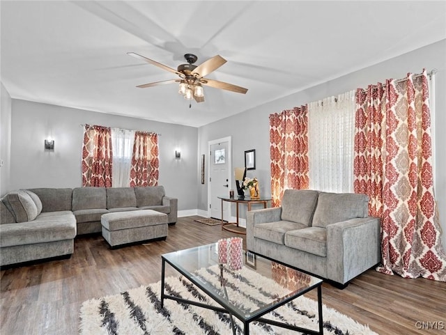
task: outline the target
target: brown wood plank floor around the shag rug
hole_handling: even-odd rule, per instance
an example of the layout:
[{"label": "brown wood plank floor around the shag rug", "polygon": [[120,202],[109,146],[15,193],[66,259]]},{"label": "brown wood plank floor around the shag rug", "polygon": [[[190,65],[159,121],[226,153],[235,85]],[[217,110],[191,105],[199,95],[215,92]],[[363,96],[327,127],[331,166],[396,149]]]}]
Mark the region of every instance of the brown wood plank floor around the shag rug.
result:
[{"label": "brown wood plank floor around the shag rug", "polygon": [[[237,235],[196,218],[179,218],[165,241],[110,250],[100,235],[78,237],[70,259],[2,270],[0,334],[77,334],[85,300],[159,281],[161,254]],[[381,335],[446,334],[446,283],[369,270],[344,290],[324,283],[323,303]]]}]

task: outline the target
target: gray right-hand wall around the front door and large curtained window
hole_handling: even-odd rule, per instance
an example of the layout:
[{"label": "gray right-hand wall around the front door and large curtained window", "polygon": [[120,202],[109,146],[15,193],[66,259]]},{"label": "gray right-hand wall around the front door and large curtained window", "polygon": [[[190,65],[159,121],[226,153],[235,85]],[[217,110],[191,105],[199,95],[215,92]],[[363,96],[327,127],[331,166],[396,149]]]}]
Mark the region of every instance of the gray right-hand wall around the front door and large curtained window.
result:
[{"label": "gray right-hand wall around the front door and large curtained window", "polygon": [[[420,73],[423,68],[428,72],[436,69],[436,115],[435,141],[436,157],[436,199],[440,219],[443,219],[443,245],[446,246],[446,40],[417,49],[402,56],[383,61],[368,68],[358,70],[344,77],[327,81],[324,84],[307,88],[285,98],[263,104],[254,109],[231,116],[215,123],[199,128],[199,154],[205,153],[208,141],[221,137],[232,137],[233,166],[244,166],[244,151],[256,149],[256,170],[248,171],[248,176],[256,176],[261,184],[261,194],[270,196],[270,147],[269,119],[272,113],[291,109],[315,100],[321,100],[330,95],[338,95],[355,88],[365,88],[387,78],[403,78],[407,72]],[[302,64],[305,66],[305,64]],[[228,93],[231,94],[231,93]],[[249,91],[248,93],[249,94]],[[249,126],[248,126],[249,125]],[[233,185],[235,187],[235,185]],[[207,187],[200,188],[199,209],[206,210]],[[240,206],[242,208],[243,206]],[[242,210],[240,217],[244,217]]]}]

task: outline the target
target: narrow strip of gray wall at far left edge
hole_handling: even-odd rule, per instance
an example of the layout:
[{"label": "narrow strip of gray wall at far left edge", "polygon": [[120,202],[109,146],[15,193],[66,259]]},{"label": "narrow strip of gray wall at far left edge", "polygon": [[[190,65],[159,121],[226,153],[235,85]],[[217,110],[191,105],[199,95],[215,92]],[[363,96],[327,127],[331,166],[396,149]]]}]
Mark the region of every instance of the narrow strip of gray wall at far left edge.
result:
[{"label": "narrow strip of gray wall at far left edge", "polygon": [[0,111],[0,196],[10,191],[11,97],[1,83]]}]

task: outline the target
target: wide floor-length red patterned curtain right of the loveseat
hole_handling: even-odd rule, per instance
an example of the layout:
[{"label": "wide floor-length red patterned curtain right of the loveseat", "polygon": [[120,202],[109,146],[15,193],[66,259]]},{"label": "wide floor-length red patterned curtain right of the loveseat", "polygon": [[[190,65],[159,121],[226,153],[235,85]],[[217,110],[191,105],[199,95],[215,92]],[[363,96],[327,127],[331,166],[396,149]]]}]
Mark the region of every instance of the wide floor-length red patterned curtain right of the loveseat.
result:
[{"label": "wide floor-length red patterned curtain right of the loveseat", "polygon": [[357,90],[355,193],[381,218],[378,271],[446,281],[433,192],[426,70]]}]

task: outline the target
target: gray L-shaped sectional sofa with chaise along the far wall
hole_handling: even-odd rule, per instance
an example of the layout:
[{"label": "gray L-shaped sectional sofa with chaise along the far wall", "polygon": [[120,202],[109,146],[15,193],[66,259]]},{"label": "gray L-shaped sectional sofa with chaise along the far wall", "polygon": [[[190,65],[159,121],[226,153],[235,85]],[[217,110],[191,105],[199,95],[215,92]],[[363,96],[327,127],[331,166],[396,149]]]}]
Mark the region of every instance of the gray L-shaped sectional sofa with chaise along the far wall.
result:
[{"label": "gray L-shaped sectional sofa with chaise along the far wall", "polygon": [[164,187],[36,188],[0,201],[0,266],[70,256],[77,235],[100,233],[101,215],[156,210],[175,224],[178,200]]}]

